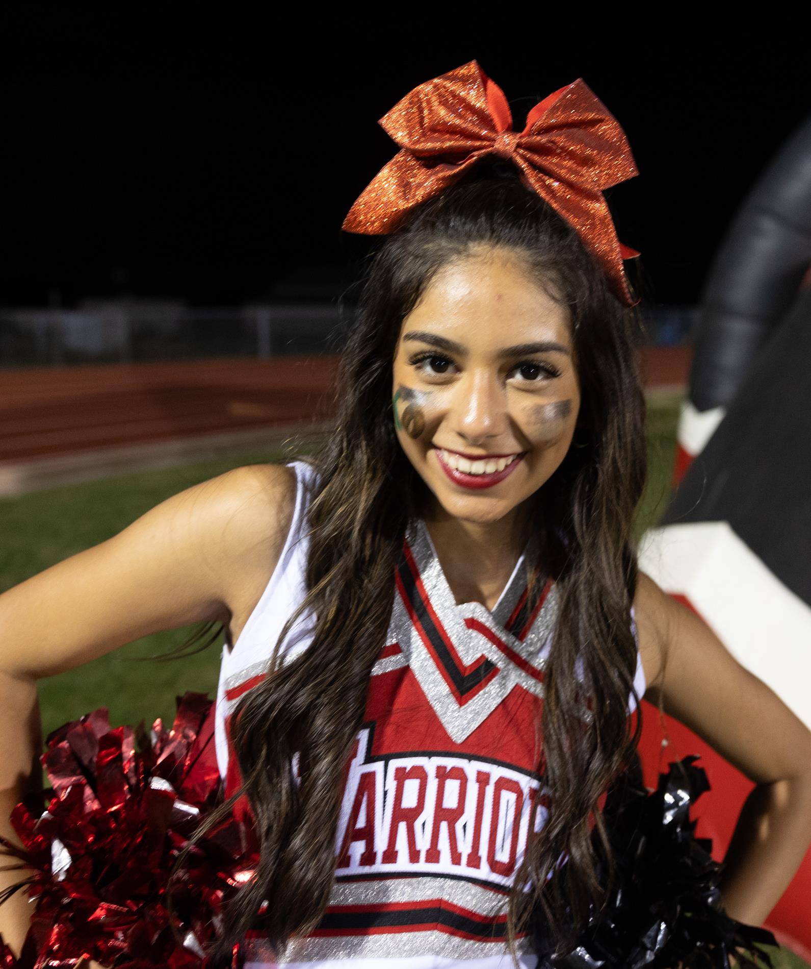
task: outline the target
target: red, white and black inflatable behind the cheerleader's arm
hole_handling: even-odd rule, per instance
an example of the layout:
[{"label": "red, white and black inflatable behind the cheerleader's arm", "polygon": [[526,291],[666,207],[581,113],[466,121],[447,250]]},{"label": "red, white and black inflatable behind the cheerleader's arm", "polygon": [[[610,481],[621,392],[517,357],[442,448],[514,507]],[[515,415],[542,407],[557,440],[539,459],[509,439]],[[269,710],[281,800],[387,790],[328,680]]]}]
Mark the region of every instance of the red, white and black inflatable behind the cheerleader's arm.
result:
[{"label": "red, white and black inflatable behind the cheerleader's arm", "polygon": [[[811,117],[741,206],[702,297],[675,490],[640,567],[697,612],[811,730]],[[753,788],[642,704],[646,784],[699,754],[697,834],[722,860]],[[663,746],[663,739],[666,745]],[[811,851],[765,922],[811,963]]]}]

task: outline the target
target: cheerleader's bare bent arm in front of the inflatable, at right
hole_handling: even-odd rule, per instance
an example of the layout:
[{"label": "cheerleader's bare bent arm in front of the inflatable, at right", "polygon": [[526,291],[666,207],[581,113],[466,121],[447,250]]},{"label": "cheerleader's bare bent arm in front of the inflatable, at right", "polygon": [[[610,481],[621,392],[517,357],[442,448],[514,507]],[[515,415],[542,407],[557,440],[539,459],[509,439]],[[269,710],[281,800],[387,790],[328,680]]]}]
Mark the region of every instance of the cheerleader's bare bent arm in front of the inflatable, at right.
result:
[{"label": "cheerleader's bare bent arm in front of the inflatable, at right", "polygon": [[741,666],[694,612],[645,574],[635,599],[646,698],[676,717],[756,787],[724,860],[722,902],[760,925],[811,842],[811,732]]}]

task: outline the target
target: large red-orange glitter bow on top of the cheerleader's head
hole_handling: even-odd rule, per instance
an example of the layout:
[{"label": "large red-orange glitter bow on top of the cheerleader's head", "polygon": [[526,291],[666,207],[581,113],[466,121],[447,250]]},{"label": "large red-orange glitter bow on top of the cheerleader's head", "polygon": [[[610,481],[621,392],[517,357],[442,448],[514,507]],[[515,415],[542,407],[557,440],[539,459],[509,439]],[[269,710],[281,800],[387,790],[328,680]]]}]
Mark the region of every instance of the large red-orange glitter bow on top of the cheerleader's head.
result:
[{"label": "large red-orange glitter bow on top of the cheerleader's head", "polygon": [[510,159],[529,188],[572,225],[602,266],[612,293],[636,305],[623,259],[639,256],[617,239],[603,191],[638,174],[616,118],[583,78],[531,109],[512,130],[507,99],[474,60],[419,84],[379,121],[401,150],[349,209],[349,233],[387,235],[421,203],[486,155]]}]

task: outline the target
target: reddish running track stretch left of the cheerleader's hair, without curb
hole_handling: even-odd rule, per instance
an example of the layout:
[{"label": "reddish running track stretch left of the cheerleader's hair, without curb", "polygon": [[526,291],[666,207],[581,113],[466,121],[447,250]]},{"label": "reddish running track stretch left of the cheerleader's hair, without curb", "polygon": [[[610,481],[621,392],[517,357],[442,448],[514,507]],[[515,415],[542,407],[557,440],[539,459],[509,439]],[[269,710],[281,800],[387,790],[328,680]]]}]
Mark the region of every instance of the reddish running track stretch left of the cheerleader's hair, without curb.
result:
[{"label": "reddish running track stretch left of the cheerleader's hair, without curb", "polygon": [[0,373],[0,461],[324,421],[333,358],[211,359]]}]

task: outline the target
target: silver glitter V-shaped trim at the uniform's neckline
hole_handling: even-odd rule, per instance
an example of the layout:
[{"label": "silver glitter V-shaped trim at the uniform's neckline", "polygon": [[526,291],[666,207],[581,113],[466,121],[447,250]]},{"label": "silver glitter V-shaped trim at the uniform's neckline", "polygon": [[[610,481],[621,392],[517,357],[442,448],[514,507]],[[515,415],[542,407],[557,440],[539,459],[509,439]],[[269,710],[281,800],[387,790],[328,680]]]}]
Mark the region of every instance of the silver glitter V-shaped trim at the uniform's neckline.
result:
[{"label": "silver glitter V-shaped trim at the uniform's neckline", "polygon": [[[422,641],[405,609],[403,597],[398,591],[392,610],[387,643],[398,642],[407,655],[408,663],[423,692],[434,708],[437,717],[455,743],[461,743],[479,727],[510,693],[516,684],[536,696],[543,696],[543,683],[517,666],[486,636],[468,629],[466,618],[476,618],[511,650],[522,656],[536,669],[542,669],[545,652],[548,652],[549,631],[554,624],[556,598],[550,593],[536,616],[532,629],[524,641],[507,633],[495,621],[489,610],[481,603],[458,606],[442,573],[439,560],[432,547],[428,531],[421,520],[412,523],[407,533],[414,561],[419,569],[425,590],[437,617],[453,642],[454,649],[466,667],[473,666],[483,657],[498,667],[493,679],[475,696],[457,700],[446,682],[437,662]],[[514,573],[516,589],[510,592],[514,598],[512,608],[526,584],[526,578]],[[554,586],[553,586],[554,589]],[[504,597],[502,597],[503,599]]]}]

